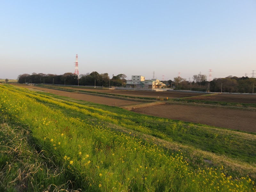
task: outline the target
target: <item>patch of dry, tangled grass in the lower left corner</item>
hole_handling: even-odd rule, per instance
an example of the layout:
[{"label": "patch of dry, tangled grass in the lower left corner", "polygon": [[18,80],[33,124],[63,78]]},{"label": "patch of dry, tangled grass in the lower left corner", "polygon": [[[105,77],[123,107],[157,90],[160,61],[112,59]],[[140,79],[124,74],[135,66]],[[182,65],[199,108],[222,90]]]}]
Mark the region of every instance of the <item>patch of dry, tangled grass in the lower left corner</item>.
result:
[{"label": "patch of dry, tangled grass in the lower left corner", "polygon": [[[58,191],[71,183],[65,170],[38,153],[27,128],[0,116],[0,191]],[[62,174],[61,174],[62,173]],[[52,185],[54,183],[54,185]]]}]

